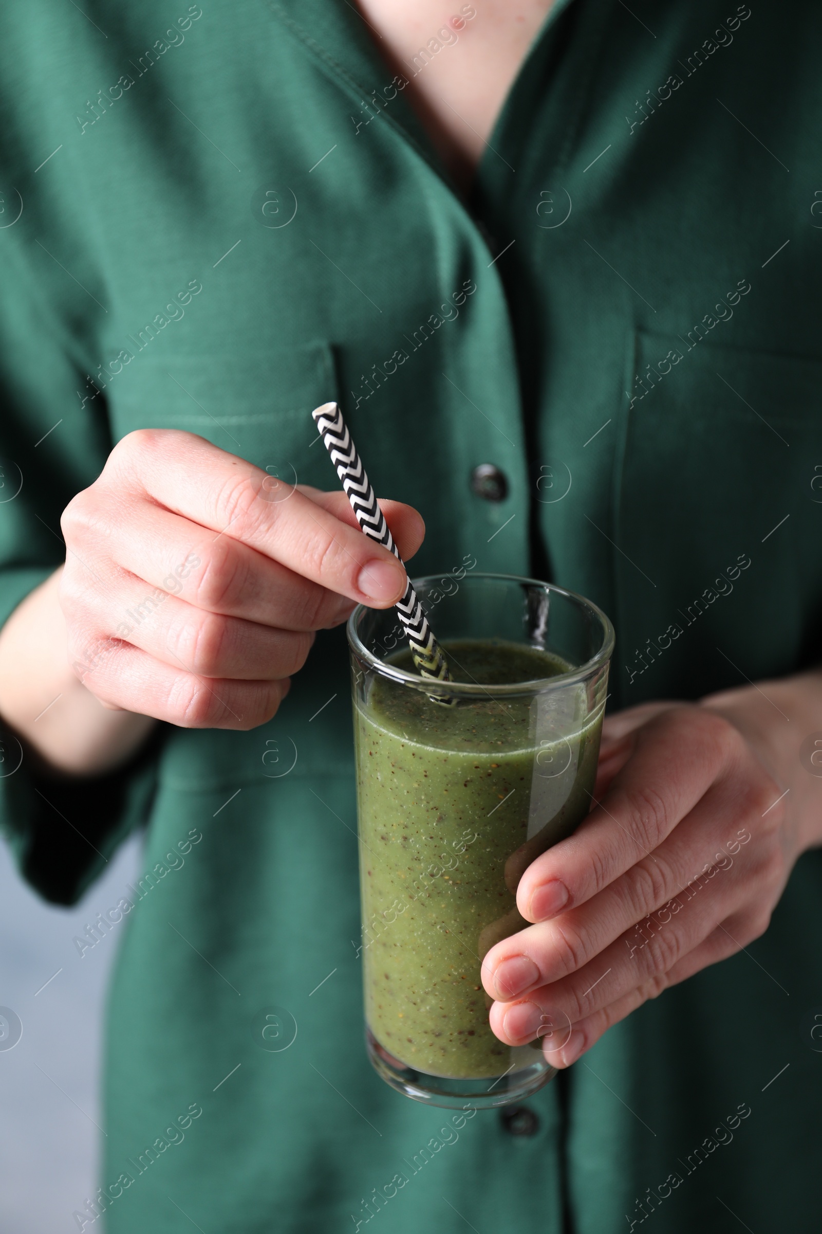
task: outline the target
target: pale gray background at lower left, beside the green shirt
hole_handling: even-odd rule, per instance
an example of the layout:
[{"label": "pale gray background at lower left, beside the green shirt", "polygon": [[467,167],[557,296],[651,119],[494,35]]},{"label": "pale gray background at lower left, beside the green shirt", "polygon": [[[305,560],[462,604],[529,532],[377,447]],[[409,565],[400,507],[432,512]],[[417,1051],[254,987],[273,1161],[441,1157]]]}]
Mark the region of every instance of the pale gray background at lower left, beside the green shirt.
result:
[{"label": "pale gray background at lower left, beside the green shirt", "polygon": [[71,939],[126,895],[140,843],[128,840],[67,909],[22,882],[0,840],[0,1006],[23,1027],[18,1044],[0,1050],[0,1230],[9,1234],[76,1234],[71,1214],[99,1185],[104,1004],[126,923],[83,959]]}]

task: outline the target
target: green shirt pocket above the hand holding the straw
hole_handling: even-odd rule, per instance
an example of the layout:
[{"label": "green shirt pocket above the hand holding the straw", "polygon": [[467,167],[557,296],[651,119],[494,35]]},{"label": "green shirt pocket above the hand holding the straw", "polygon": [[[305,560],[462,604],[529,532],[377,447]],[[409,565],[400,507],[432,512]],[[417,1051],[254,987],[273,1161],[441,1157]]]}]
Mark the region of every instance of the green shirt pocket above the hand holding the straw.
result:
[{"label": "green shirt pocket above the hand holding the straw", "polygon": [[311,413],[339,397],[323,341],[288,350],[138,354],[110,392],[115,441],[136,428],[180,428],[285,484],[335,485]]}]

